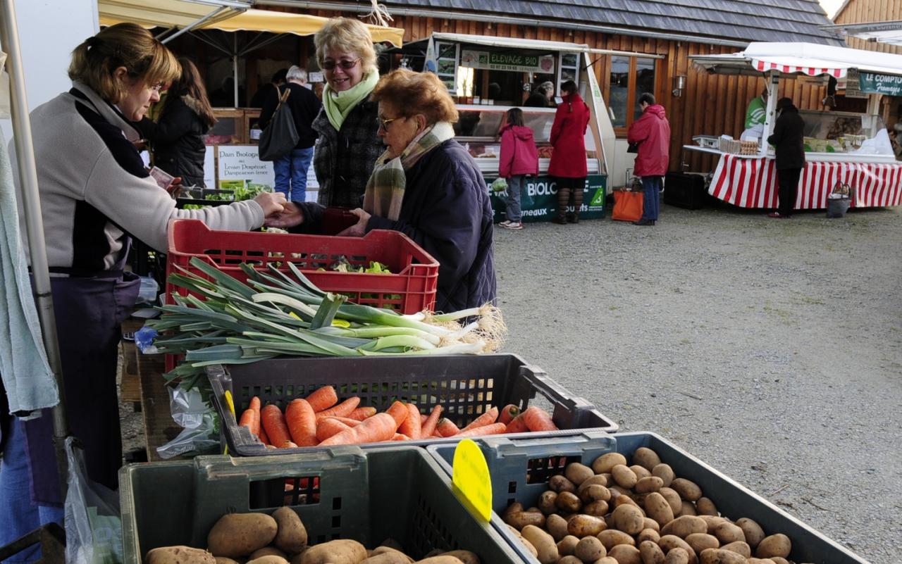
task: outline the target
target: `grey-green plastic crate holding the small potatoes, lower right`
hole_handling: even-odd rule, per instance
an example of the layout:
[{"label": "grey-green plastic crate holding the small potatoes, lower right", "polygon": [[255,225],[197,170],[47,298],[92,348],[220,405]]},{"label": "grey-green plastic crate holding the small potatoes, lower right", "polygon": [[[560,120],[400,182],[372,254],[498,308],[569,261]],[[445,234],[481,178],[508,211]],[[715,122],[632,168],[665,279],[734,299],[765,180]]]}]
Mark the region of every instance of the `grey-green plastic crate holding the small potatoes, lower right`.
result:
[{"label": "grey-green plastic crate holding the small potatoes, lower right", "polygon": [[[586,432],[580,436],[552,440],[485,437],[477,442],[485,454],[492,476],[492,524],[511,542],[520,557],[530,564],[538,564],[538,560],[509,532],[500,517],[504,509],[514,501],[519,501],[525,507],[536,505],[538,496],[548,489],[548,478],[563,473],[570,462],[591,465],[594,459],[611,451],[620,452],[629,460],[640,447],[648,447],[657,452],[661,461],[674,469],[676,477],[687,478],[698,484],[704,496],[713,500],[721,514],[732,519],[754,519],[767,534],[786,534],[792,540],[790,559],[814,564],[869,564],[867,560],[655,433]],[[433,445],[427,448],[449,476],[454,450],[455,445]]]}]

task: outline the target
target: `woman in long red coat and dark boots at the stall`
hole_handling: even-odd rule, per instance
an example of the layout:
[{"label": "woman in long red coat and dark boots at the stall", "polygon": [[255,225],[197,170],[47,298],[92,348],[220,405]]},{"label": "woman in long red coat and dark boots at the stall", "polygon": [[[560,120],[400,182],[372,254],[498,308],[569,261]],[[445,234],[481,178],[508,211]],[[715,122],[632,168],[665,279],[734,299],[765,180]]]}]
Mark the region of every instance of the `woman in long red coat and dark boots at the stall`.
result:
[{"label": "woman in long red coat and dark boots at the stall", "polygon": [[[551,126],[551,164],[548,175],[555,177],[557,184],[557,217],[554,223],[579,222],[579,211],[583,205],[585,190],[585,128],[589,124],[589,106],[576,92],[576,83],[567,80],[561,85],[561,98],[557,105],[555,123]],[[570,195],[573,195],[573,214],[567,214]]]}]

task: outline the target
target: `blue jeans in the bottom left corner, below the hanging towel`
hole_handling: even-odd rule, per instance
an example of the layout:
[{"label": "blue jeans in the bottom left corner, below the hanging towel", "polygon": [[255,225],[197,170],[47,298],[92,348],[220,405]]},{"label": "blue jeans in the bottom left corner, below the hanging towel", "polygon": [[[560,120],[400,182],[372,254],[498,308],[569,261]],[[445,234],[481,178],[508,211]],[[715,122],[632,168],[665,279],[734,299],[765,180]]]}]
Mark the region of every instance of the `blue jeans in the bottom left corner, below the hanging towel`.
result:
[{"label": "blue jeans in the bottom left corner, below the hanging towel", "polygon": [[[0,546],[5,546],[46,523],[63,523],[63,508],[32,503],[32,479],[25,456],[22,422],[13,417],[10,436],[0,460]],[[41,559],[41,547],[32,546],[3,564],[24,564]]]}]

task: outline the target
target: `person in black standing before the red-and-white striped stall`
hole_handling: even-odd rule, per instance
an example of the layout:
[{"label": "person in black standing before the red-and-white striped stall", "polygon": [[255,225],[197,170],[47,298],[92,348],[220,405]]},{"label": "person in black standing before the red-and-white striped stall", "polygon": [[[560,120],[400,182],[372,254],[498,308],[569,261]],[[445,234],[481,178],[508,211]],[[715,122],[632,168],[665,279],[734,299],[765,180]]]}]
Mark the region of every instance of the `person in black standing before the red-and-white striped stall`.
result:
[{"label": "person in black standing before the red-and-white striped stall", "polygon": [[778,211],[769,217],[789,219],[796,206],[798,178],[805,168],[805,122],[791,98],[777,101],[777,123],[768,142],[776,148],[779,182]]}]

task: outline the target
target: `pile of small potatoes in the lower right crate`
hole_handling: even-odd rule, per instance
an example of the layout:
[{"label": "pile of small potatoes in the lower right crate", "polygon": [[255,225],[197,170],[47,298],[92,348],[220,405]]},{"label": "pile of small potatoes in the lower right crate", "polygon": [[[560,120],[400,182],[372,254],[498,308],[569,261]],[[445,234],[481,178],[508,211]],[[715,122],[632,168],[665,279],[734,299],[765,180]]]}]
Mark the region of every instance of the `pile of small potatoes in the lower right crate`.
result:
[{"label": "pile of small potatoes in the lower right crate", "polygon": [[568,464],[538,507],[502,518],[541,564],[789,564],[785,534],[733,522],[651,449]]}]

